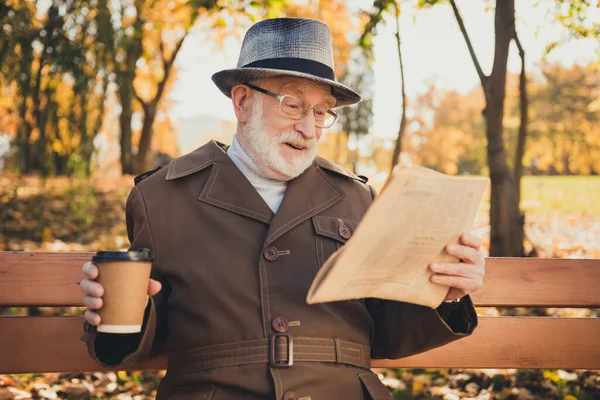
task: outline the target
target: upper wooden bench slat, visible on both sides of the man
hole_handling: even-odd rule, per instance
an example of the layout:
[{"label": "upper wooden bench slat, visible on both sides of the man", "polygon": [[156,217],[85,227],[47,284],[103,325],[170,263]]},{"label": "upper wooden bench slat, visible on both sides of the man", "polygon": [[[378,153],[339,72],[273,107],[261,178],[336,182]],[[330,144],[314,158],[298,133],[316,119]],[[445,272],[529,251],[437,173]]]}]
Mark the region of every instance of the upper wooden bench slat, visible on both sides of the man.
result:
[{"label": "upper wooden bench slat, visible on both sides of the man", "polygon": [[[0,306],[82,306],[93,253],[0,252]],[[600,307],[600,260],[488,258],[480,307]]]}]

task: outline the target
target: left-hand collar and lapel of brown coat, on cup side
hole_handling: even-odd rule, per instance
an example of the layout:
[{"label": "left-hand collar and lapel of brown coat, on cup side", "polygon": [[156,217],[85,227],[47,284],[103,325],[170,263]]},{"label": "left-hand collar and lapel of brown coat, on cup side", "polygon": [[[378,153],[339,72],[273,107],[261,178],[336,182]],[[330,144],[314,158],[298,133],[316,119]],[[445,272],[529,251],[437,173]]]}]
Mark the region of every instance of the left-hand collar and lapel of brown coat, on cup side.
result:
[{"label": "left-hand collar and lapel of brown coat, on cup side", "polygon": [[182,178],[212,165],[210,176],[198,200],[269,224],[273,219],[273,212],[222,146],[221,143],[211,141],[174,160],[165,179]]}]

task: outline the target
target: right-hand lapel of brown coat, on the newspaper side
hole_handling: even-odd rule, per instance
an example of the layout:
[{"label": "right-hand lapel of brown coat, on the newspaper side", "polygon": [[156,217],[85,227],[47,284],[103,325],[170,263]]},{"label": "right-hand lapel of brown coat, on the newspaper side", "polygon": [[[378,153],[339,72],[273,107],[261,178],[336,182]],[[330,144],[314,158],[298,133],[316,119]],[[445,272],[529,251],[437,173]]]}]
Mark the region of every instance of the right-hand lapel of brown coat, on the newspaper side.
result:
[{"label": "right-hand lapel of brown coat, on the newspaper side", "polygon": [[313,215],[333,206],[345,196],[325,172],[317,164],[313,164],[298,178],[290,181],[281,206],[269,227],[265,246]]}]

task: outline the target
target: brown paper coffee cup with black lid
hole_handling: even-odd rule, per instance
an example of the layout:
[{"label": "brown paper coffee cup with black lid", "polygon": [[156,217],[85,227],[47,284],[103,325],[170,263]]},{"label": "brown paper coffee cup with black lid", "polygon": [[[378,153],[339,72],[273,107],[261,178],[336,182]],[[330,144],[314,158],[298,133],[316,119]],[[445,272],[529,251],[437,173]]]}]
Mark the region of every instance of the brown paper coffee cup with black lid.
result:
[{"label": "brown paper coffee cup with black lid", "polygon": [[149,249],[99,251],[92,262],[98,266],[96,281],[104,288],[98,332],[136,333],[142,330],[152,269]]}]

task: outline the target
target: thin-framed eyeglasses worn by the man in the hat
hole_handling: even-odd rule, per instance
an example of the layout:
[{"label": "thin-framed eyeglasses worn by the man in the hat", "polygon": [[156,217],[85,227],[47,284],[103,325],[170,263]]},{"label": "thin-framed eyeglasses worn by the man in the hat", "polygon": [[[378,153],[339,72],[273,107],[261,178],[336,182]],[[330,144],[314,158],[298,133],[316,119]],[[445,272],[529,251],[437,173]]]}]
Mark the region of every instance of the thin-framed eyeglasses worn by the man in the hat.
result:
[{"label": "thin-framed eyeglasses worn by the man in the hat", "polygon": [[338,113],[329,108],[329,106],[325,103],[311,106],[310,103],[296,96],[291,96],[289,94],[282,96],[258,86],[250,85],[249,83],[246,83],[246,85],[258,92],[264,93],[279,100],[279,112],[286,117],[290,117],[291,119],[301,120],[306,116],[306,114],[308,114],[310,110],[314,109],[315,126],[317,128],[327,129],[331,128],[338,118]]}]

